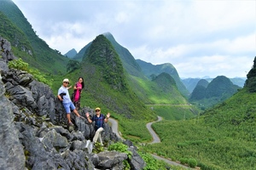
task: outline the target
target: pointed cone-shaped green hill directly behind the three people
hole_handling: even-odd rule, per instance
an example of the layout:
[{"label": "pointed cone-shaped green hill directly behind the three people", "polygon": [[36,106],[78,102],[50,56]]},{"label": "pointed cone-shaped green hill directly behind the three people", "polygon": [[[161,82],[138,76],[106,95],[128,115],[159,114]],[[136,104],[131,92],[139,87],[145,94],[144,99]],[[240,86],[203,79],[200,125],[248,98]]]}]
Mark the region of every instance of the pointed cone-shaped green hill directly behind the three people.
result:
[{"label": "pointed cone-shaped green hill directly behind the three people", "polygon": [[[137,120],[154,120],[154,113],[144,107],[143,101],[131,91],[119,55],[111,42],[97,36],[84,53],[81,68],[75,71],[86,82],[86,103],[104,105],[109,111]],[[96,102],[94,102],[96,101]],[[147,112],[148,114],[143,114]],[[115,115],[117,116],[117,115]]]}]

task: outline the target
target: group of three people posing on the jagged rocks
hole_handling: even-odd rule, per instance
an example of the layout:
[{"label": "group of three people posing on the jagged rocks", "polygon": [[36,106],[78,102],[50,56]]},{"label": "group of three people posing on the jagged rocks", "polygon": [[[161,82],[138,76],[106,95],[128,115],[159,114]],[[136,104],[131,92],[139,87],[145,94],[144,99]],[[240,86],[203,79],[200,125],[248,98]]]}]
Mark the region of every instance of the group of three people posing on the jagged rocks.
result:
[{"label": "group of three people posing on the jagged rocks", "polygon": [[[65,78],[62,81],[62,86],[58,90],[58,99],[61,100],[62,105],[66,111],[67,114],[67,125],[68,126],[73,126],[73,122],[71,121],[71,111],[74,112],[76,116],[79,116],[81,118],[84,118],[83,116],[79,115],[78,109],[80,107],[80,98],[81,98],[81,93],[82,89],[84,88],[84,79],[83,77],[79,77],[78,82],[75,83],[73,87],[73,97],[72,99],[70,98],[70,95],[68,93],[68,89],[72,88],[72,86],[69,86],[69,80]],[[96,115],[92,116],[90,118],[90,114],[87,112],[86,113],[86,119],[88,122],[92,123],[95,122],[95,135],[93,138],[93,142],[96,143],[97,139],[99,138],[100,133],[103,131],[104,123],[108,122],[108,118],[110,117],[110,113],[107,114],[107,116],[104,116],[101,113],[101,108],[96,107],[95,109]]]}]

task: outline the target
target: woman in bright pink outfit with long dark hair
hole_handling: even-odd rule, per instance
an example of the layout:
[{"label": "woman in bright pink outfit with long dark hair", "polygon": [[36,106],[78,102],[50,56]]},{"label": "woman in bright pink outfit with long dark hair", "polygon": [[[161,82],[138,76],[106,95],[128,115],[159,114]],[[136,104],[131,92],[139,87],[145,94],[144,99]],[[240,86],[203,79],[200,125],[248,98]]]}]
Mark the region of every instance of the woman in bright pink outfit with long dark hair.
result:
[{"label": "woman in bright pink outfit with long dark hair", "polygon": [[73,105],[75,105],[76,109],[80,109],[80,98],[81,98],[81,93],[82,89],[84,88],[84,78],[79,77],[79,81],[75,83],[73,87]]}]

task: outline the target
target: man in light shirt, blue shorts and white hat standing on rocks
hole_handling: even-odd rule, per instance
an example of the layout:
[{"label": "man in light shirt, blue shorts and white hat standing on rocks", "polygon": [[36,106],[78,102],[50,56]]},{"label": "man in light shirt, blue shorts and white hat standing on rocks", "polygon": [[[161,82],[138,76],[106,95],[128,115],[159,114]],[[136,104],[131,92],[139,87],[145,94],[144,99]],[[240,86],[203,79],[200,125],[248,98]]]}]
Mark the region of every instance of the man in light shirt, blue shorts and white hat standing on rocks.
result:
[{"label": "man in light shirt, blue shorts and white hat standing on rocks", "polygon": [[73,112],[75,113],[76,116],[80,117],[80,115],[69,97],[68,89],[72,88],[72,86],[67,87],[68,84],[69,84],[69,80],[67,78],[65,78],[62,82],[61,88],[59,88],[59,90],[58,90],[58,99],[61,100],[62,105],[64,106],[65,111],[67,113],[68,125],[73,126],[73,122],[71,122],[71,118],[70,118],[71,110],[73,110]]}]

